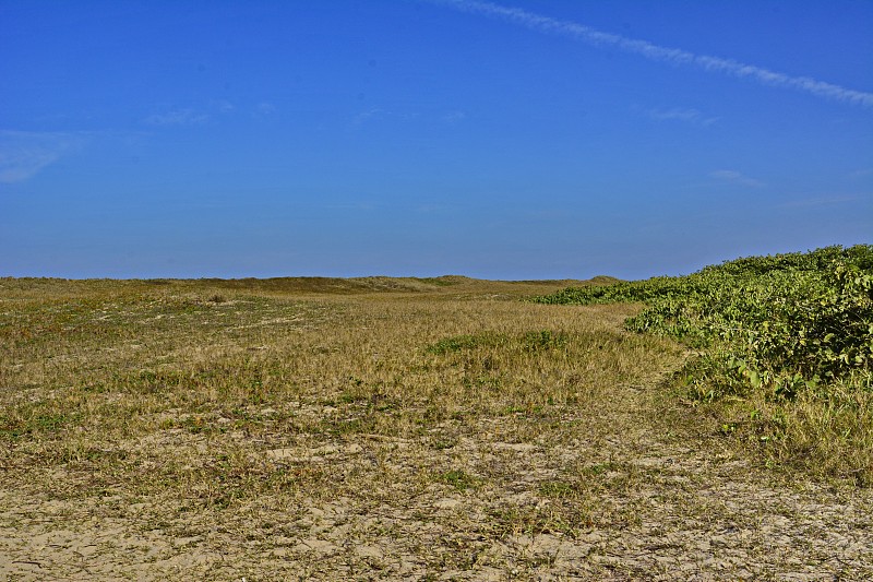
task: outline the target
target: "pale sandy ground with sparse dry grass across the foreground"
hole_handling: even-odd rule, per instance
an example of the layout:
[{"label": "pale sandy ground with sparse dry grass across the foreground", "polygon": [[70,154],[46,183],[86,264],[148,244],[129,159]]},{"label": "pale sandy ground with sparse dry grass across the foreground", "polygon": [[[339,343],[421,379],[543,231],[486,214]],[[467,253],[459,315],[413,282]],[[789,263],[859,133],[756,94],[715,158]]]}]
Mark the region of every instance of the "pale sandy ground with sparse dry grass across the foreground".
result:
[{"label": "pale sandy ground with sparse dry grass across the foreground", "polygon": [[[639,393],[626,389],[617,397],[642,403]],[[502,442],[497,425],[450,423],[440,430],[456,444],[442,451],[366,435],[315,449],[301,442],[260,451],[264,462],[327,466],[339,478],[368,471],[394,477],[375,492],[349,496],[337,487],[336,496],[328,491],[290,507],[265,497],[224,510],[186,511],[177,499],[132,500],[111,490],[65,499],[60,484],[70,476],[47,471],[27,484],[3,483],[0,575],[34,581],[873,579],[870,490],[778,483],[711,439],[662,438],[644,421],[638,430],[610,435],[597,430],[609,418],[590,423],[577,423],[567,440],[553,446]],[[589,439],[590,433],[597,436]],[[164,438],[165,447],[208,448],[205,437],[179,430]],[[410,494],[409,480],[422,468],[459,463],[478,475],[503,477],[471,488],[430,483]],[[560,506],[561,496],[539,495],[542,484],[567,466],[601,467],[588,472],[587,526],[572,533],[562,531],[560,512],[550,507]]]}]

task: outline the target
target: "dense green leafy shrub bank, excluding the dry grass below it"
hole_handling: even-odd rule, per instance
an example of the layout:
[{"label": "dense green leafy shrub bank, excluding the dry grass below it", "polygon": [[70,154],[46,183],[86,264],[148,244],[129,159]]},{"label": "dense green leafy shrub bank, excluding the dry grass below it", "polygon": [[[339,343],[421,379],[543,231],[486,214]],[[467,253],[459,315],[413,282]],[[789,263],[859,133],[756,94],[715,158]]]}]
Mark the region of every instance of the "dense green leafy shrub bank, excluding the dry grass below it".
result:
[{"label": "dense green leafy shrub bank, excluding the dry grass below it", "polygon": [[[535,300],[644,302],[626,329],[698,348],[682,371],[696,401],[762,401],[773,405],[773,418],[784,418],[779,406],[801,394],[827,411],[835,394],[873,387],[871,245],[750,257],[686,276],[567,288]],[[869,424],[869,416],[858,418]],[[859,428],[859,443],[868,442],[873,428]]]}]

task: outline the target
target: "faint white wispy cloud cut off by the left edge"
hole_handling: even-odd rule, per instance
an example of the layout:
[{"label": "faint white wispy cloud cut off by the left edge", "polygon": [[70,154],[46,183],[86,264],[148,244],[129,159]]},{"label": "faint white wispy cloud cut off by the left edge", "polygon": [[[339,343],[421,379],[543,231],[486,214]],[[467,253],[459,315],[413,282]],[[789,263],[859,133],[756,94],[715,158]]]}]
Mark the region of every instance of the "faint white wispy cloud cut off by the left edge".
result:
[{"label": "faint white wispy cloud cut off by the left edge", "polygon": [[0,131],[0,183],[28,180],[76,150],[83,140],[73,133]]}]

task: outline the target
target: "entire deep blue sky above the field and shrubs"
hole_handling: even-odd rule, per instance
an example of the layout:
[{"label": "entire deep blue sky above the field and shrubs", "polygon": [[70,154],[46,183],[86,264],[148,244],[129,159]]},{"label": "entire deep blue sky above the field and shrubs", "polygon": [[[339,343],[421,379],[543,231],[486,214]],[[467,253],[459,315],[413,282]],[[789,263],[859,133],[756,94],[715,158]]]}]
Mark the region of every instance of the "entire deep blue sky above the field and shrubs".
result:
[{"label": "entire deep blue sky above the field and shrubs", "polygon": [[0,275],[641,278],[873,242],[871,31],[869,0],[0,0]]}]

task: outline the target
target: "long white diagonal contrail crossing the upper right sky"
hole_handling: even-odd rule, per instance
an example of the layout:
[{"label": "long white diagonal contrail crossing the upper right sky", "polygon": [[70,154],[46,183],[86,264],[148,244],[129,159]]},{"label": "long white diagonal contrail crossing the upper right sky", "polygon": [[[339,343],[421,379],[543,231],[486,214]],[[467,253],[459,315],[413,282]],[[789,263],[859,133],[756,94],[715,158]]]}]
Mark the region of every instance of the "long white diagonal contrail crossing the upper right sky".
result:
[{"label": "long white diagonal contrail crossing the upper right sky", "polygon": [[745,64],[733,59],[695,55],[694,52],[689,52],[687,50],[661,47],[645,40],[636,40],[634,38],[627,38],[617,34],[603,33],[575,22],[541,16],[518,8],[507,8],[500,4],[493,4],[491,2],[481,2],[478,0],[430,1],[432,3],[449,5],[465,12],[503,17],[535,31],[572,36],[594,46],[615,47],[625,52],[641,55],[654,61],[693,66],[705,71],[715,71],[733,76],[752,79],[764,85],[793,88],[803,91],[805,93],[811,93],[818,97],[827,97],[830,99],[851,103],[853,105],[873,107],[873,93],[846,88],[833,83],[817,81],[809,76],[791,76],[785,73],[770,71],[762,67],[755,67],[754,64]]}]

